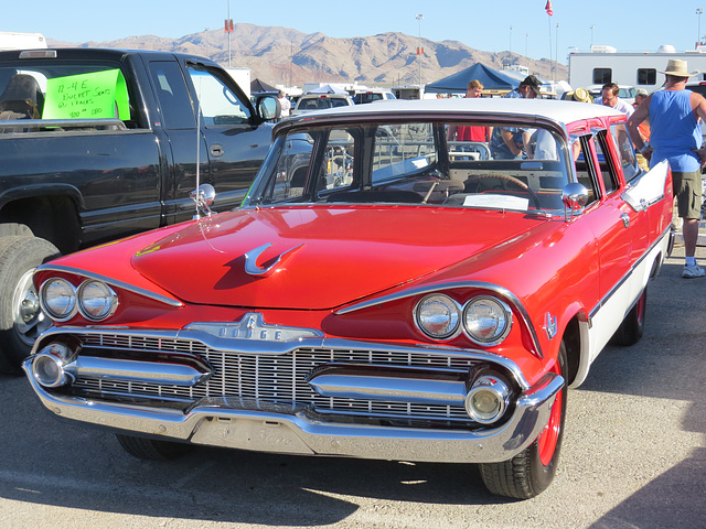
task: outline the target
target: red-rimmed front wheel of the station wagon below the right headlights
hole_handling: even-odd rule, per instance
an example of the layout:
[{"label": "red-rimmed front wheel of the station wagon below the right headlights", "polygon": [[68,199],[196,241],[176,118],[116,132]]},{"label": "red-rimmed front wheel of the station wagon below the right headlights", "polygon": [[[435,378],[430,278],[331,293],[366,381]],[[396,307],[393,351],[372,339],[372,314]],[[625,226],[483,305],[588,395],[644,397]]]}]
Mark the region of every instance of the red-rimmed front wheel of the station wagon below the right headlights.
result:
[{"label": "red-rimmed front wheel of the station wagon below the right headlights", "polygon": [[[561,342],[552,371],[567,380],[566,366],[566,347]],[[481,477],[488,489],[501,496],[527,499],[547,488],[559,462],[565,419],[566,386],[555,397],[549,421],[534,443],[512,460],[480,465]]]}]

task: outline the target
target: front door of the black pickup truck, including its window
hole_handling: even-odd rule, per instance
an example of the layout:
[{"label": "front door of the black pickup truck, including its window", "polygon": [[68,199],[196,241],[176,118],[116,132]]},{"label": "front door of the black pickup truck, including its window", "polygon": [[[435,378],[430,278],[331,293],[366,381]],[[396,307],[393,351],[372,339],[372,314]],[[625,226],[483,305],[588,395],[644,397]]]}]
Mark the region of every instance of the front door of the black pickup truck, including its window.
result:
[{"label": "front door of the black pickup truck, including its window", "polygon": [[224,71],[193,63],[188,69],[208,152],[210,183],[216,190],[213,207],[232,209],[243,202],[269,151],[271,126],[254,116],[249,100]]}]

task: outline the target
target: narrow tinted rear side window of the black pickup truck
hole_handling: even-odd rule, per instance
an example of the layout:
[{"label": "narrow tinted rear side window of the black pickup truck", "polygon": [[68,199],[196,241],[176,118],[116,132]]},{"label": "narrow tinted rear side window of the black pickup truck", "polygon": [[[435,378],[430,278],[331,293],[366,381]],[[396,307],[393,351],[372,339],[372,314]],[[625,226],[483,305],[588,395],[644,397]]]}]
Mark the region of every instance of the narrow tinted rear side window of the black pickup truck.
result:
[{"label": "narrow tinted rear side window of the black pickup truck", "polygon": [[195,128],[196,119],[179,65],[168,61],[152,61],[149,67],[164,127],[167,129]]}]

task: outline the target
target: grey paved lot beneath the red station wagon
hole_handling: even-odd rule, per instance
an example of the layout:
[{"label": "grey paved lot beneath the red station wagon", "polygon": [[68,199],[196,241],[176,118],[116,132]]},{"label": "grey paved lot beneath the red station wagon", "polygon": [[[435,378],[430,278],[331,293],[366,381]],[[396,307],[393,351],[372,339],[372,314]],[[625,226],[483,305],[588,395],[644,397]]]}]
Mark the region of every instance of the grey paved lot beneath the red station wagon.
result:
[{"label": "grey paved lot beneath the red station wagon", "polygon": [[532,500],[489,495],[473,465],[211,449],[140,462],[0,377],[0,527],[704,528],[706,279],[681,279],[681,256],[651,283],[643,339],[569,392],[557,477]]}]

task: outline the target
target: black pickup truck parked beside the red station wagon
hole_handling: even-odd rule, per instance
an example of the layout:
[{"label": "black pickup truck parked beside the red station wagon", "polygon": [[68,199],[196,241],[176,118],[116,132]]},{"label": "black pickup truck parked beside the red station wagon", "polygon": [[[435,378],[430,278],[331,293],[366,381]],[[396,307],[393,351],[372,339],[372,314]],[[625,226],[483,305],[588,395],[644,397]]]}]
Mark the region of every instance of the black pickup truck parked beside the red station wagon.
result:
[{"label": "black pickup truck parked beside the red station wagon", "polygon": [[216,63],[92,48],[0,52],[0,370],[46,326],[33,269],[60,253],[186,220],[189,194],[239,205],[268,151],[255,104]]}]

